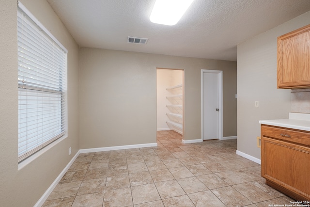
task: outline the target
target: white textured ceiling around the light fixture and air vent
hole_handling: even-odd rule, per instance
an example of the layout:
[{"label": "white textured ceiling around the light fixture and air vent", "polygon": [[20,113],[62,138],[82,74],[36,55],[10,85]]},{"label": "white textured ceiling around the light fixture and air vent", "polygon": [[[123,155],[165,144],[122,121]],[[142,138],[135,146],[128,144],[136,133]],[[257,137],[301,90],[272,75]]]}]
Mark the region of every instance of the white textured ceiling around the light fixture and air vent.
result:
[{"label": "white textured ceiling around the light fixture and air vent", "polygon": [[[47,1],[80,47],[230,61],[237,44],[310,11],[310,0],[194,0],[166,26],[149,20],[155,0]],[[130,44],[127,36],[149,40]]]}]

